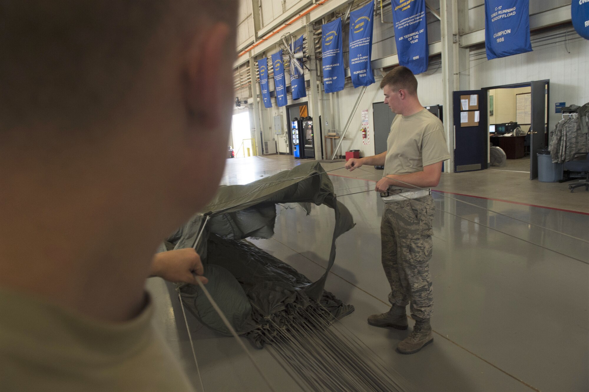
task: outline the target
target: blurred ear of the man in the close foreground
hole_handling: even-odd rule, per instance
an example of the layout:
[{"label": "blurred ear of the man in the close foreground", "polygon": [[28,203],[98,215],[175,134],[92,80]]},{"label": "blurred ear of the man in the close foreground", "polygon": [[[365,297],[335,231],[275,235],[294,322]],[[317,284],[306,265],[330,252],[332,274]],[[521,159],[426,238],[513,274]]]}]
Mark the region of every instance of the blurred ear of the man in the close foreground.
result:
[{"label": "blurred ear of the man in the close foreground", "polygon": [[[223,85],[233,85],[233,73],[227,61],[227,45],[234,52],[227,24],[217,23],[195,35],[188,48],[186,61],[186,108],[192,120],[201,127],[219,125],[224,102]],[[224,66],[226,64],[229,67]],[[227,68],[227,69],[225,69]]]}]

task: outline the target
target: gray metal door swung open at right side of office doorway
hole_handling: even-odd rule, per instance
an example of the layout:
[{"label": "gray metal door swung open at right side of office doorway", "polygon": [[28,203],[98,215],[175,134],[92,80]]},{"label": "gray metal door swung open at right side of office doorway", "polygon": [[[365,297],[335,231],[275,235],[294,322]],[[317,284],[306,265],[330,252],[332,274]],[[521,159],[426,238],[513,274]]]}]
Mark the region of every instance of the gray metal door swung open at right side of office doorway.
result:
[{"label": "gray metal door swung open at right side of office doorway", "polygon": [[538,150],[546,147],[546,101],[548,81],[531,82],[532,115],[530,126],[530,180],[538,178]]}]

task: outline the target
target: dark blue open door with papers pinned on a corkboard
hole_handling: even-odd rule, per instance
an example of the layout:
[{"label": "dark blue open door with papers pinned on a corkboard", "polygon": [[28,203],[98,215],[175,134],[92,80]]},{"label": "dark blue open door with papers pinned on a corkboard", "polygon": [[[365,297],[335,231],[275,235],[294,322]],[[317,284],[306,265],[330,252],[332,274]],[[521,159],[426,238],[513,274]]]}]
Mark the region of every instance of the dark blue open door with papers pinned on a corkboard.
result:
[{"label": "dark blue open door with papers pinned on a corkboard", "polygon": [[453,94],[454,171],[486,169],[489,148],[487,91],[454,91]]}]

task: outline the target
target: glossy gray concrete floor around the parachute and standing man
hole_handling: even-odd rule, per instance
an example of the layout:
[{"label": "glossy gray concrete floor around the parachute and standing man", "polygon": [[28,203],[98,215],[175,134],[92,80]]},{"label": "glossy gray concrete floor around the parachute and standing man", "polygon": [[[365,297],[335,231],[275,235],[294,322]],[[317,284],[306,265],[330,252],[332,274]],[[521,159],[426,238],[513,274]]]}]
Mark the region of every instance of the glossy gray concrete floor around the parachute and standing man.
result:
[{"label": "glossy gray concrete floor around the parachute and standing man", "polygon": [[[244,184],[297,164],[286,156],[228,160],[223,183]],[[348,195],[373,189],[382,171],[366,170],[330,172],[356,221],[337,241],[326,285],[356,307],[343,325],[415,391],[589,390],[589,192],[571,194],[567,184],[530,181],[515,171],[443,175],[436,188],[443,192],[434,193],[430,263],[434,344],[402,356],[394,347],[409,331],[366,324],[368,315],[387,310],[389,293],[380,265],[383,204],[376,192]],[[274,237],[254,242],[316,279],[325,271],[332,227],[327,207],[314,206],[309,216],[298,207],[283,209]],[[148,287],[156,325],[200,390],[171,285],[153,278]],[[269,390],[233,338],[207,330],[191,315],[187,320],[204,390]],[[299,390],[267,350],[252,353],[274,390]]]}]

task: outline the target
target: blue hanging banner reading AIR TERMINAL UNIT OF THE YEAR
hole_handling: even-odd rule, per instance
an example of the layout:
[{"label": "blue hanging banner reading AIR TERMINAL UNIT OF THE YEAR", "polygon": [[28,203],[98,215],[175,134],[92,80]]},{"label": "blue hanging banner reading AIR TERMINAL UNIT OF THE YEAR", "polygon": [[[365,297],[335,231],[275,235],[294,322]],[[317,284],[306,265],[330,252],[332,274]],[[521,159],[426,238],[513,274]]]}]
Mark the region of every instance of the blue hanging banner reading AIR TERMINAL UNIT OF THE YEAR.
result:
[{"label": "blue hanging banner reading AIR TERMINAL UNIT OF THE YEAR", "polygon": [[399,64],[414,75],[428,70],[428,23],[425,0],[391,0]]}]

